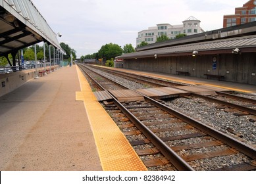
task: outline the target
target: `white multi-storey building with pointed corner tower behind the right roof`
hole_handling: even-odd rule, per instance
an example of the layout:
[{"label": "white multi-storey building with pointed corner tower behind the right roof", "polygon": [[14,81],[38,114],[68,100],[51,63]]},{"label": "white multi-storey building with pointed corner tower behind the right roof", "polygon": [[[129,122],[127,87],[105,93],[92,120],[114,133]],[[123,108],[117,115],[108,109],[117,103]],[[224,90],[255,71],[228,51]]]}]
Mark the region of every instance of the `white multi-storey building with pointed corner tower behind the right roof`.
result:
[{"label": "white multi-storey building with pointed corner tower behind the right roof", "polygon": [[142,41],[146,41],[149,44],[155,43],[157,37],[163,34],[167,35],[170,39],[175,39],[178,34],[192,35],[202,33],[204,31],[200,27],[200,22],[200,20],[190,16],[180,25],[157,24],[157,26],[149,27],[148,30],[138,32],[136,45],[140,45]]}]

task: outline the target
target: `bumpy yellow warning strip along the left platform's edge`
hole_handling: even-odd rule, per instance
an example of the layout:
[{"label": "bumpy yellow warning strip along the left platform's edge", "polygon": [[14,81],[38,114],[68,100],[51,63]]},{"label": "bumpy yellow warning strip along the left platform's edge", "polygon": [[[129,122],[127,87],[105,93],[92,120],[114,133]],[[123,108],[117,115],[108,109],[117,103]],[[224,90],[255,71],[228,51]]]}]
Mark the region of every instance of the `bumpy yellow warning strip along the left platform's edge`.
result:
[{"label": "bumpy yellow warning strip along the left platform's edge", "polygon": [[76,100],[84,101],[103,171],[146,171],[126,137],[93,95],[78,66],[76,70],[81,87]]}]

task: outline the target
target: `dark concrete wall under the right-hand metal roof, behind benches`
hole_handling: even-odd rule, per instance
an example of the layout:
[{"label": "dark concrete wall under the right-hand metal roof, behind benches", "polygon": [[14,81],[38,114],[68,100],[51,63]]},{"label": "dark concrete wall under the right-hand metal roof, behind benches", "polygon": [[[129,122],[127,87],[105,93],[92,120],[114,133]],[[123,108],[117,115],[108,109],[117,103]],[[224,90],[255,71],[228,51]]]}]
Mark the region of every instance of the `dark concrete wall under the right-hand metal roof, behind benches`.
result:
[{"label": "dark concrete wall under the right-hand metal roof, behind benches", "polygon": [[[216,68],[213,57],[217,58]],[[226,81],[256,85],[256,53],[134,58],[124,60],[124,68],[166,74],[184,71],[197,78],[213,74],[224,76]]]}]

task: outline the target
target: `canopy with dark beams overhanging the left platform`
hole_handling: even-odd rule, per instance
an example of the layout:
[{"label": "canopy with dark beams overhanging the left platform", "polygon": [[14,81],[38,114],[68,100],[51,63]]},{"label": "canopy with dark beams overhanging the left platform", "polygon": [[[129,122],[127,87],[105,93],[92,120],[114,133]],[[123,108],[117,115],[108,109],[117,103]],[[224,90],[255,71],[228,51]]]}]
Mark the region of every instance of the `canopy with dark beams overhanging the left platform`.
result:
[{"label": "canopy with dark beams overhanging the left platform", "polygon": [[0,57],[41,41],[61,49],[56,35],[32,1],[0,0]]}]

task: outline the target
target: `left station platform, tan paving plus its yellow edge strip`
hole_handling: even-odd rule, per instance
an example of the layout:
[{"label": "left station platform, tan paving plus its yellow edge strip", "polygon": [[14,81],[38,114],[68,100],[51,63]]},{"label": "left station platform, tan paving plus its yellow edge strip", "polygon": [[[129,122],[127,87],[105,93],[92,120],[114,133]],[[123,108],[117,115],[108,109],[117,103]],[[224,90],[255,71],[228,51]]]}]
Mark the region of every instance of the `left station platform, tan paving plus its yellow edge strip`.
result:
[{"label": "left station platform, tan paving plus its yellow edge strip", "polygon": [[77,66],[0,97],[1,171],[146,170]]}]

